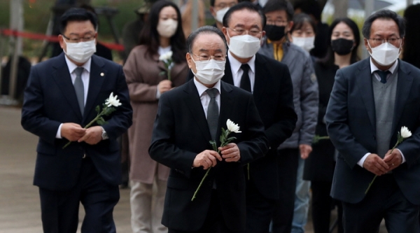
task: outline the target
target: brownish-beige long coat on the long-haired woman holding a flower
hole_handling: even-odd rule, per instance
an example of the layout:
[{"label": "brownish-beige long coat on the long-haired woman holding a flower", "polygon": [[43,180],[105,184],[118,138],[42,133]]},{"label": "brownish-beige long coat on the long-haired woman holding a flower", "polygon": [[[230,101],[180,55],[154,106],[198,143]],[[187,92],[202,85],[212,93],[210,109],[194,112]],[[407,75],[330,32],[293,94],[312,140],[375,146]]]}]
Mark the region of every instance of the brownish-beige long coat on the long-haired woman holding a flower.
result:
[{"label": "brownish-beige long coat on the long-haired woman holding a flower", "polygon": [[[162,181],[166,181],[169,175],[168,167],[158,164],[148,155],[153,122],[158,112],[156,92],[159,82],[167,76],[161,74],[165,65],[159,61],[159,55],[145,57],[145,53],[145,45],[135,47],[124,65],[124,73],[133,108],[133,125],[128,129],[130,179],[152,184],[156,173]],[[187,62],[175,64],[171,70],[172,85],[177,87],[185,83],[187,74]]]}]

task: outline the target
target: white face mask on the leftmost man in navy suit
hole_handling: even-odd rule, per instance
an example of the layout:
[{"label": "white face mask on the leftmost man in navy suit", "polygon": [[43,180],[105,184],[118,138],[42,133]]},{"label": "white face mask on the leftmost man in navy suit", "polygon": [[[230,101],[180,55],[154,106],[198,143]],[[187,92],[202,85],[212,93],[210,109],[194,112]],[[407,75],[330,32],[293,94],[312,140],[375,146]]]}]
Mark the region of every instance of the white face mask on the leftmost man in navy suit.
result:
[{"label": "white face mask on the leftmost man in navy suit", "polygon": [[64,53],[74,62],[85,63],[96,52],[94,41],[80,41],[78,43],[66,43],[66,51]]}]

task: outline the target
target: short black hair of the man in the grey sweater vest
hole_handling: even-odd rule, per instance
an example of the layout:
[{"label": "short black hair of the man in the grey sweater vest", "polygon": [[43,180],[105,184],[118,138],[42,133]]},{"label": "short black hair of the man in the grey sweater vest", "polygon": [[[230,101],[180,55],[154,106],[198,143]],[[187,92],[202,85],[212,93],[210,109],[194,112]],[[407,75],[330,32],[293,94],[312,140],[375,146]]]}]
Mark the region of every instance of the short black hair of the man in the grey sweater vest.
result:
[{"label": "short black hair of the man in the grey sweater vest", "polygon": [[405,35],[405,22],[404,19],[397,15],[397,13],[393,12],[392,10],[378,10],[377,12],[373,13],[365,20],[365,23],[362,27],[362,34],[365,38],[370,38],[370,29],[372,28],[372,23],[374,20],[377,19],[388,19],[393,20],[397,25],[400,31],[400,37],[404,37]]}]

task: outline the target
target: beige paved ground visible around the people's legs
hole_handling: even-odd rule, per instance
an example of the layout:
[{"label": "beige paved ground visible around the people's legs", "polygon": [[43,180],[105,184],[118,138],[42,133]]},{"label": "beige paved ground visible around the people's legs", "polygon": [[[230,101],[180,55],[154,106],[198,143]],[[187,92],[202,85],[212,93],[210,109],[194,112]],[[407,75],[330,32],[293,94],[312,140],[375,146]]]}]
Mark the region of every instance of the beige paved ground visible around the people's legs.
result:
[{"label": "beige paved ground visible around the people's legs", "polygon": [[[20,108],[0,106],[0,233],[42,232],[38,189],[32,185],[36,142],[20,126]],[[120,196],[114,211],[117,232],[130,233],[130,191],[120,190]],[[313,233],[310,222],[306,233]]]}]

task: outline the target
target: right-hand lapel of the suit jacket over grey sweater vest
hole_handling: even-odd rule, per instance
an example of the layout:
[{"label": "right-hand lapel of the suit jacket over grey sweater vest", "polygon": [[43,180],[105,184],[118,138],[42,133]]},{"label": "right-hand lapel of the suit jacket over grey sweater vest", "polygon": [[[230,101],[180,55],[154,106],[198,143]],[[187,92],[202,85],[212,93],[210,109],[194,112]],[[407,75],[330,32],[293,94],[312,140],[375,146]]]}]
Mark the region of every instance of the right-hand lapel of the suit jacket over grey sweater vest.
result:
[{"label": "right-hand lapel of the suit jacket over grey sweater vest", "polygon": [[[400,121],[402,110],[405,106],[405,102],[408,99],[412,83],[413,77],[410,76],[409,69],[406,69],[405,64],[401,60],[398,60],[398,83],[397,93],[395,96],[392,132],[395,132],[398,122]],[[397,130],[399,131],[400,129]]]}]

